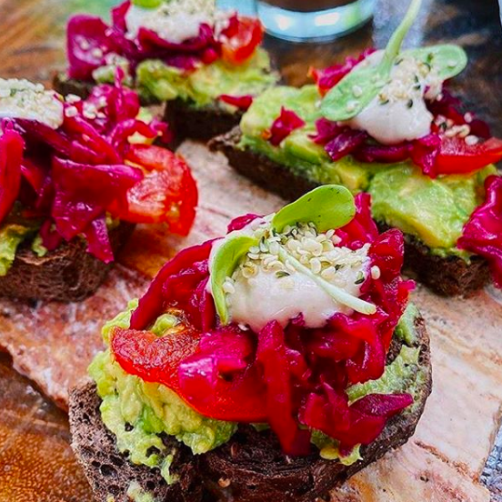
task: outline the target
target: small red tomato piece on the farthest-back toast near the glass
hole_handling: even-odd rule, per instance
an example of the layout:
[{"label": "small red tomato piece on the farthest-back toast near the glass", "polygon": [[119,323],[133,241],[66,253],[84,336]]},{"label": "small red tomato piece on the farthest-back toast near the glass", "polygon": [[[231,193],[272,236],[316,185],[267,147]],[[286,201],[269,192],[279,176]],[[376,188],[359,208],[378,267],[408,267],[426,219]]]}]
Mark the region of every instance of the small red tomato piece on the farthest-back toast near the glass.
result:
[{"label": "small red tomato piece on the farthest-back toast near the glass", "polygon": [[242,64],[255,53],[263,40],[263,27],[258,19],[238,18],[222,43],[223,60],[233,65]]}]

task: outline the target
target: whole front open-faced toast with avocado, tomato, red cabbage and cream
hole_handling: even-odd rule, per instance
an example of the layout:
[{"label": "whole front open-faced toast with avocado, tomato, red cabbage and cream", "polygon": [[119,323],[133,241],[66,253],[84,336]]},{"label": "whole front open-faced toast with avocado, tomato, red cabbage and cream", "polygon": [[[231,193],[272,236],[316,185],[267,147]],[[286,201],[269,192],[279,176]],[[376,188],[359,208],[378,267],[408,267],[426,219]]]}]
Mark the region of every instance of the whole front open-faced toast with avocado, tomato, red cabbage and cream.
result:
[{"label": "whole front open-faced toast with avocado, tomato, red cabbage and cream", "polygon": [[313,501],[404,444],[431,367],[403,252],[325,185],[179,253],[72,393],[96,500]]}]

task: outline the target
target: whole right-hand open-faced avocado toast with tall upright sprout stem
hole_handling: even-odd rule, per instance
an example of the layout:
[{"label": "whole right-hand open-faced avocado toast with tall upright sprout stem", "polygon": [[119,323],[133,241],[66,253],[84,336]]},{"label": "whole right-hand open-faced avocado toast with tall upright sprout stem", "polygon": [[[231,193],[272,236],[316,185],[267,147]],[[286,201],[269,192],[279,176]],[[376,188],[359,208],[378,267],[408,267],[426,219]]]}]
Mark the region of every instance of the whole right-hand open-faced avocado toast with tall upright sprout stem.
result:
[{"label": "whole right-hand open-faced avocado toast with tall upright sprout stem", "polygon": [[419,5],[385,51],[265,91],[212,147],[288,198],[324,183],[371,194],[379,225],[405,233],[406,268],[436,292],[475,290],[490,266],[500,286],[502,141],[448,91],[467,62],[460,47],[400,50]]}]

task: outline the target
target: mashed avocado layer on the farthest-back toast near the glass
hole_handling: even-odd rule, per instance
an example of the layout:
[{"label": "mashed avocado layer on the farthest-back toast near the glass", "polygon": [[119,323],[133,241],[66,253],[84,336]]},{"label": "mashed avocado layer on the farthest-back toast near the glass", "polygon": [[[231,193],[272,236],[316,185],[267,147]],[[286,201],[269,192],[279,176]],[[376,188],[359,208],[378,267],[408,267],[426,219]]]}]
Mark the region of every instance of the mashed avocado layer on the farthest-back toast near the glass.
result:
[{"label": "mashed avocado layer on the farthest-back toast near the glass", "polygon": [[[127,69],[125,60],[102,67],[94,72],[96,81],[112,82],[116,66]],[[257,95],[274,85],[279,79],[271,71],[270,57],[263,49],[241,65],[229,65],[218,59],[209,65],[201,65],[194,71],[184,71],[168,66],[161,60],[143,61],[137,68],[136,86],[148,101],[170,101],[180,98],[196,108],[208,106],[222,94],[241,96]],[[219,102],[228,111],[235,107]]]}]

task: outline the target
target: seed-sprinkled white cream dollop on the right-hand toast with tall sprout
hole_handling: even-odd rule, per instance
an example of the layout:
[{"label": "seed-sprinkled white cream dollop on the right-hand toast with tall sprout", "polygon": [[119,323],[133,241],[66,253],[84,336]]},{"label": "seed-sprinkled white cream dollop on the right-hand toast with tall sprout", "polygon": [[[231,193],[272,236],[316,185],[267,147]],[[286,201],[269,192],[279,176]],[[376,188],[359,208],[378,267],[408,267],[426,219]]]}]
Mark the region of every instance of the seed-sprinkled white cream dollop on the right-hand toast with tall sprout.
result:
[{"label": "seed-sprinkled white cream dollop on the right-hand toast with tall sprout", "polygon": [[[357,67],[378,64],[383,51],[371,54]],[[427,136],[432,113],[425,99],[435,99],[442,80],[434,70],[411,57],[404,57],[391,72],[391,82],[357,116],[347,121],[352,129],[366,131],[384,145],[395,145]]]}]

